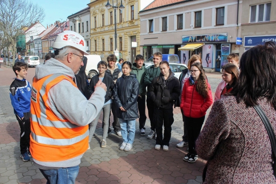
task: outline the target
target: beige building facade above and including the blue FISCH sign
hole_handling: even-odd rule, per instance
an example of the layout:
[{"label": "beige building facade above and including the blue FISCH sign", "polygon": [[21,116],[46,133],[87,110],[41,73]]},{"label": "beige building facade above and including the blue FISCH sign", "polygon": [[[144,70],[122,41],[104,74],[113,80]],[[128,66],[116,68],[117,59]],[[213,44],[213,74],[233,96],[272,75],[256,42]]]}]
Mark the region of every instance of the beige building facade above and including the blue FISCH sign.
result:
[{"label": "beige building facade above and including the blue FISCH sign", "polygon": [[275,1],[243,1],[241,19],[241,38],[243,45],[240,53],[266,41],[276,44],[276,9]]}]

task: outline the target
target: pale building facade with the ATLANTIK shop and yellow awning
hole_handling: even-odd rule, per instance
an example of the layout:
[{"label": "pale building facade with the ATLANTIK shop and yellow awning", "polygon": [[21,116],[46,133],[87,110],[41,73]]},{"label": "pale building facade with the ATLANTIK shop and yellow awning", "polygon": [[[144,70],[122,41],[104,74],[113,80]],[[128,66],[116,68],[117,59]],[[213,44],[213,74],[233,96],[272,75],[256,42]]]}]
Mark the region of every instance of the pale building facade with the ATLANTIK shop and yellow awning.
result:
[{"label": "pale building facade with the ATLANTIK shop and yellow awning", "polygon": [[[155,0],[140,11],[141,53],[177,54],[188,63],[192,54],[202,57],[206,72],[220,72],[229,53],[240,52],[242,1]],[[163,4],[162,4],[163,3]],[[185,47],[185,50],[178,49]]]}]

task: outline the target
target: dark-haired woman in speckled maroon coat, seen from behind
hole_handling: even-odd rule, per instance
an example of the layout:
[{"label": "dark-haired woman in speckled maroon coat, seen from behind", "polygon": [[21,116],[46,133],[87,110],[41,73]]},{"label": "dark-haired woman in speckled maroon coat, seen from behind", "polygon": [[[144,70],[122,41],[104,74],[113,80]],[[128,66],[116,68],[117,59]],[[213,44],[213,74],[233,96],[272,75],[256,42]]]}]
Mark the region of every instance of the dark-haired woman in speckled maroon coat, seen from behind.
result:
[{"label": "dark-haired woman in speckled maroon coat, seen from behind", "polygon": [[276,46],[269,41],[243,53],[237,83],[214,103],[197,139],[198,155],[208,160],[203,183],[276,183],[269,136],[254,108],[275,132],[275,91]]}]

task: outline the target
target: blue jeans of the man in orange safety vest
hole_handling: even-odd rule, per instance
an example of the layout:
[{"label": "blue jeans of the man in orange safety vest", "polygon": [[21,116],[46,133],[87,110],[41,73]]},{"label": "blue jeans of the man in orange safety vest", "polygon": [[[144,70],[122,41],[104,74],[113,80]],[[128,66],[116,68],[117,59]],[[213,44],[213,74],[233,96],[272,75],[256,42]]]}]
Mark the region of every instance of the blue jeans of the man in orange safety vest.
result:
[{"label": "blue jeans of the man in orange safety vest", "polygon": [[51,170],[39,170],[47,179],[47,184],[74,184],[79,174],[79,166]]}]

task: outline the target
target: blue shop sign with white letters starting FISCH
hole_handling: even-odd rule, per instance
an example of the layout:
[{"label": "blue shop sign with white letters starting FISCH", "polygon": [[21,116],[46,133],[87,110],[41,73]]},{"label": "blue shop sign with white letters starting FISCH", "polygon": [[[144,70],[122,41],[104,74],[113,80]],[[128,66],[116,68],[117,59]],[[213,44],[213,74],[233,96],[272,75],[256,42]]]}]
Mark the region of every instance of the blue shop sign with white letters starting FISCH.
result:
[{"label": "blue shop sign with white letters starting FISCH", "polygon": [[264,44],[267,41],[273,41],[276,43],[276,35],[271,36],[245,36],[244,47],[256,46],[258,44]]}]

